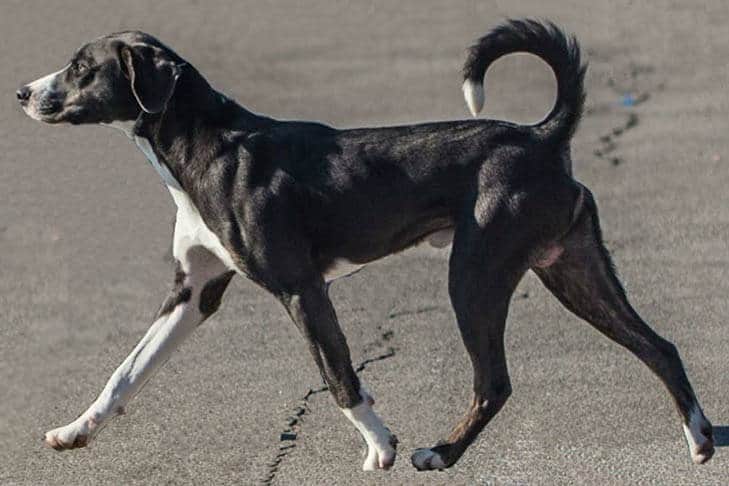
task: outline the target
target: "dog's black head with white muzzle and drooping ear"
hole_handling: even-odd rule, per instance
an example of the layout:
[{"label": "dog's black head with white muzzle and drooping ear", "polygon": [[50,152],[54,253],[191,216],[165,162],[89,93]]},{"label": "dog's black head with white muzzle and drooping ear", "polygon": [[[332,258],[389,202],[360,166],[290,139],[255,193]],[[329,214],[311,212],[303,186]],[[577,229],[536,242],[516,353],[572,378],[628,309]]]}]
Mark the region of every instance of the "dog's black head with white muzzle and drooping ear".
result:
[{"label": "dog's black head with white muzzle and drooping ear", "polygon": [[46,123],[112,123],[159,113],[184,61],[154,37],[121,32],[82,46],[71,61],[17,91],[25,113]]}]

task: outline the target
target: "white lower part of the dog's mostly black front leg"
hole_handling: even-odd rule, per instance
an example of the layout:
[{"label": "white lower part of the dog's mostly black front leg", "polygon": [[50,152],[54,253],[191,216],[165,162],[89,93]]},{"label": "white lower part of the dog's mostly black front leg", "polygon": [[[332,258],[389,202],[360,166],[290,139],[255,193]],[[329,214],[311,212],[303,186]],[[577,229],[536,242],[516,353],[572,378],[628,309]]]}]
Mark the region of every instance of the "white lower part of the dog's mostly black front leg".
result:
[{"label": "white lower part of the dog's mostly black front leg", "polygon": [[360,388],[360,393],[362,403],[352,408],[343,408],[342,412],[367,443],[367,458],[362,470],[390,469],[395,463],[395,437],[372,410],[373,401],[369,394],[364,388]]}]

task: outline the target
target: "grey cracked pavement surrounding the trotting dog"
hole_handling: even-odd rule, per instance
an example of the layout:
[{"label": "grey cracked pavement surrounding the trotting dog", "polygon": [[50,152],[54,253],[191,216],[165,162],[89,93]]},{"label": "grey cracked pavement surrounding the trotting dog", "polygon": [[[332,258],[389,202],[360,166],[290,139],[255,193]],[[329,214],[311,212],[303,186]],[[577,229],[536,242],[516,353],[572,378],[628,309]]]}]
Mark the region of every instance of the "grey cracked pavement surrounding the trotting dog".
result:
[{"label": "grey cracked pavement surrounding the trotting dog", "polygon": [[[545,6],[545,4],[549,6]],[[83,41],[158,34],[249,108],[360,126],[466,116],[464,48],[505,16],[548,16],[590,60],[575,172],[598,197],[632,300],[682,352],[729,444],[729,7],[577,0],[11,1],[0,6],[1,484],[727,484],[729,454],[693,466],[667,393],[529,275],[509,318],[514,395],[457,467],[415,473],[464,410],[471,374],[445,253],[414,250],[333,298],[377,408],[401,439],[393,471],[359,472],[361,442],[302,340],[238,280],[221,312],[89,449],[42,447],[100,390],[171,281],[173,206],[142,155],[104,128],[52,128],[14,90]],[[632,93],[634,107],[621,96]],[[554,84],[528,57],[490,73],[487,116],[538,120]],[[621,127],[623,129],[621,130]],[[617,129],[617,130],[616,130]],[[613,131],[620,132],[615,135]],[[296,440],[280,441],[303,413]],[[287,448],[288,446],[288,448]],[[282,450],[283,447],[283,450]]]}]

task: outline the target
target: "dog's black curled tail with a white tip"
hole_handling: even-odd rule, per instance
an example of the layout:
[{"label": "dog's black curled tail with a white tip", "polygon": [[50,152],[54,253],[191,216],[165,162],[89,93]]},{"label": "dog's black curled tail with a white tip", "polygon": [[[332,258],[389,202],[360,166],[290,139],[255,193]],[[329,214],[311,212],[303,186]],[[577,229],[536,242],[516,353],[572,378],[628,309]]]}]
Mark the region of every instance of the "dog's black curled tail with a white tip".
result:
[{"label": "dog's black curled tail with a white tip", "polygon": [[558,144],[569,141],[582,116],[585,102],[583,80],[586,65],[580,60],[577,40],[551,22],[509,20],[474,44],[463,67],[463,95],[473,116],[483,108],[483,78],[496,59],[514,52],[539,56],[557,78],[554,108],[534,129],[541,137]]}]

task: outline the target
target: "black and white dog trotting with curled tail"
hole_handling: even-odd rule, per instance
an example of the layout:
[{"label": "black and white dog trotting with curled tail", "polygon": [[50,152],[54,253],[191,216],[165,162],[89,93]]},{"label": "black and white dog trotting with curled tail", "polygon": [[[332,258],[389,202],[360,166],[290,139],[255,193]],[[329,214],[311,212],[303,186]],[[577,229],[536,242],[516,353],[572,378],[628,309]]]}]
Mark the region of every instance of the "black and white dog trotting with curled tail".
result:
[{"label": "black and white dog trotting with curled tail", "polygon": [[352,369],[328,283],[424,240],[452,240],[448,287],[473,363],[474,396],[445,441],[414,452],[417,469],[455,464],[504,406],[511,393],[504,324],[529,269],[569,310],[658,375],[681,415],[692,459],[709,460],[711,424],[676,348],[628,303],[593,196],[572,178],[570,139],[585,73],[576,41],[532,20],[493,30],[465,64],[468,106],[480,111],[487,68],[513,52],[541,57],[557,78],[556,104],[534,126],[472,120],[337,130],[278,121],[215,91],[141,32],[86,44],[66,67],[18,90],[36,120],[122,128],[177,205],[174,288],[96,401],[49,431],[46,443],[58,450],[87,445],[216,311],[240,274],[278,298],[306,338],[336,403],[367,442],[363,468],[388,469],[396,440]]}]

